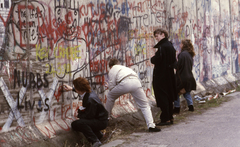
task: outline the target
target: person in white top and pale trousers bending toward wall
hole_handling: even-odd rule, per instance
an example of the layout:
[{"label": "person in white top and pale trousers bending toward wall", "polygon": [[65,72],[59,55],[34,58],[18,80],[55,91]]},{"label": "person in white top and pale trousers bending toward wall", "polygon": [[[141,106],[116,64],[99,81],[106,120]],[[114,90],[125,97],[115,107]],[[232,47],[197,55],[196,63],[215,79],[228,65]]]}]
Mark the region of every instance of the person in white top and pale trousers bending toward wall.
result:
[{"label": "person in white top and pale trousers bending toward wall", "polygon": [[115,100],[121,95],[131,93],[137,106],[142,111],[149,132],[161,131],[161,129],[157,128],[153,122],[151,108],[137,73],[131,68],[119,65],[119,60],[116,58],[110,59],[109,68],[109,83],[106,83],[106,86],[109,89],[106,102],[106,109],[109,117],[111,116]]}]

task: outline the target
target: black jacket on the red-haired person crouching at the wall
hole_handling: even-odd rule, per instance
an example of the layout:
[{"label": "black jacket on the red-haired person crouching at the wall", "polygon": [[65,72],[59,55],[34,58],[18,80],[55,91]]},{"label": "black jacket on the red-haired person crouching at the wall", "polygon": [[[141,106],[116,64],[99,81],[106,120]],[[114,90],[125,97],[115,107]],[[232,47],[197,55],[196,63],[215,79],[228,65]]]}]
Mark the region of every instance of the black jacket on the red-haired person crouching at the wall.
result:
[{"label": "black jacket on the red-haired person crouching at the wall", "polygon": [[108,112],[95,92],[86,93],[83,97],[82,106],[86,109],[78,109],[78,118],[107,120]]}]

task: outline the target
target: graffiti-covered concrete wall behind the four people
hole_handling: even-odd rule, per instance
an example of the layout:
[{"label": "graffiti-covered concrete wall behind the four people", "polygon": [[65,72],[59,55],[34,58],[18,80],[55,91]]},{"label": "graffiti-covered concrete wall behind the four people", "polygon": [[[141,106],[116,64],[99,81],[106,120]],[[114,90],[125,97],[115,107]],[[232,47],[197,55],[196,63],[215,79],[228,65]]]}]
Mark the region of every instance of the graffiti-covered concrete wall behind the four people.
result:
[{"label": "graffiti-covered concrete wall behind the four people", "polygon": [[[152,97],[153,31],[194,43],[193,73],[201,83],[239,72],[237,0],[0,0],[0,129],[36,126],[47,137],[70,130],[78,95],[64,92],[79,76],[106,102],[108,60],[136,71]],[[136,112],[131,95],[113,116]],[[58,120],[58,121],[56,121]]]}]

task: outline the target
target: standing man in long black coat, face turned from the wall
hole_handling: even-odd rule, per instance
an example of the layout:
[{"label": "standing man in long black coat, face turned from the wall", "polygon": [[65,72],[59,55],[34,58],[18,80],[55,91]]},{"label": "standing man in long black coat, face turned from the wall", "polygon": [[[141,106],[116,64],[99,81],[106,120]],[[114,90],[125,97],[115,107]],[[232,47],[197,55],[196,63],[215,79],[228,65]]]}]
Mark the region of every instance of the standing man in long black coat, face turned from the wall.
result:
[{"label": "standing man in long black coat, face turned from the wall", "polygon": [[152,83],[157,107],[160,107],[162,111],[160,114],[161,122],[156,125],[163,126],[173,123],[173,101],[177,98],[174,74],[176,50],[168,41],[166,30],[155,30],[154,37],[159,42],[154,46],[157,48],[157,52],[151,58],[151,63],[154,64]]}]

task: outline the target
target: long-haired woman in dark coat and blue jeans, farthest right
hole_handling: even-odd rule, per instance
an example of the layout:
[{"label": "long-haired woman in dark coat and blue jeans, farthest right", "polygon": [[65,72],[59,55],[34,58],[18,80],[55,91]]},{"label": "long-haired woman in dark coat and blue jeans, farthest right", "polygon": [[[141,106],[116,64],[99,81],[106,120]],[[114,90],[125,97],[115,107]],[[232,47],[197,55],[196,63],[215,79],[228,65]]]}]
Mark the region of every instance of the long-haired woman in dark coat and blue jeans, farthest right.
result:
[{"label": "long-haired woman in dark coat and blue jeans, farthest right", "polygon": [[193,101],[190,92],[196,90],[196,80],[192,73],[193,57],[195,56],[191,40],[184,39],[180,44],[181,52],[178,55],[176,79],[177,79],[177,100],[174,101],[174,113],[180,112],[179,95],[187,100],[189,111],[194,111]]}]

